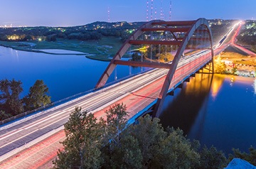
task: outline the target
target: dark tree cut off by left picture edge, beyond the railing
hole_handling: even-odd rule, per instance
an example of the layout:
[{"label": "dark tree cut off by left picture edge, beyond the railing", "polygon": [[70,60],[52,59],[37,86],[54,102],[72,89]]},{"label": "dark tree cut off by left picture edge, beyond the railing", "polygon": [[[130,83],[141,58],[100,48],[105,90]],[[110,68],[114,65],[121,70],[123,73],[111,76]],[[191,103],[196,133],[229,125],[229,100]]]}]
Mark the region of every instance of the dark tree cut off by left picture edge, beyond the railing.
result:
[{"label": "dark tree cut off by left picture edge, beyond the railing", "polygon": [[23,111],[23,104],[19,95],[23,91],[20,80],[1,80],[0,81],[0,109],[12,116]]}]

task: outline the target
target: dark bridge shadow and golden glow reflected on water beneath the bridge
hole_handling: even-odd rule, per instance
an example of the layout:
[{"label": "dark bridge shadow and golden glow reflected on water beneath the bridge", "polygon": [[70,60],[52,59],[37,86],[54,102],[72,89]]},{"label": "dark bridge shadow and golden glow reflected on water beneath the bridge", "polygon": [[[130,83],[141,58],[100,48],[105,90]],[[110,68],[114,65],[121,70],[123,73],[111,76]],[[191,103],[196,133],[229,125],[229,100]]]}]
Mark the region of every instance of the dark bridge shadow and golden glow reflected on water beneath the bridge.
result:
[{"label": "dark bridge shadow and golden glow reflected on water beneath the bridge", "polygon": [[[214,80],[213,80],[214,79]],[[183,89],[176,89],[174,97],[166,97],[161,124],[163,126],[174,126],[183,129],[187,134],[193,125],[198,112],[207,109],[206,99],[212,90],[213,97],[216,97],[220,90],[223,78],[201,74],[191,77],[190,82],[183,85]]]}]

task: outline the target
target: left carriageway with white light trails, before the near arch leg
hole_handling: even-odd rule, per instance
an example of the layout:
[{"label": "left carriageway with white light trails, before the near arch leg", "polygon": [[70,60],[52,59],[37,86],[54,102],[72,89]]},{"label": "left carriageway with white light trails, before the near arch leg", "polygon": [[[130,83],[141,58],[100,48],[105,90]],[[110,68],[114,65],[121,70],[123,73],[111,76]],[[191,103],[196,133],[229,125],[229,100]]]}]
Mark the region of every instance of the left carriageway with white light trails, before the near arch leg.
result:
[{"label": "left carriageway with white light trails, before the near arch leg", "polygon": [[44,133],[63,126],[68,121],[70,111],[73,111],[75,107],[82,107],[83,110],[93,113],[102,109],[102,106],[107,107],[117,99],[121,99],[131,92],[136,92],[165,74],[166,70],[151,70],[144,75],[133,77],[132,80],[125,80],[125,82],[87,94],[64,105],[53,107],[46,113],[42,112],[40,116],[21,124],[2,127],[0,129],[0,156]]}]

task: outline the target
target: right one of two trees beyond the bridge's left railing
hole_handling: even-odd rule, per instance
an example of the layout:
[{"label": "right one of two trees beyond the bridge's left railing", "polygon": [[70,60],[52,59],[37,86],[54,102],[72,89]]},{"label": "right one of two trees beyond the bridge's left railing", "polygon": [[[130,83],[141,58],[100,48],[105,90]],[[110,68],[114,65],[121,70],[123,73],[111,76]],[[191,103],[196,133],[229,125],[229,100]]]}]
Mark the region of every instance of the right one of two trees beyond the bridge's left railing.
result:
[{"label": "right one of two trees beyond the bridge's left railing", "polygon": [[47,95],[48,87],[43,80],[36,80],[35,84],[29,89],[29,93],[23,98],[25,110],[32,110],[45,106],[50,103],[50,97]]}]

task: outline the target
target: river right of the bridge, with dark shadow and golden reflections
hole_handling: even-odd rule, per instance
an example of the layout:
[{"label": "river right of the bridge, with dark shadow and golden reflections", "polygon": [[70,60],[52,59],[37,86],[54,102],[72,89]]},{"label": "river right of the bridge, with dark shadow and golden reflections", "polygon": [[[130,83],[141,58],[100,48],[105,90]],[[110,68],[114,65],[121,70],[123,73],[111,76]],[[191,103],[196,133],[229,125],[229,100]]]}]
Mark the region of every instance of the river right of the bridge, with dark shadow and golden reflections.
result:
[{"label": "river right of the bridge, with dark shadow and golden reflections", "polygon": [[255,101],[255,78],[196,75],[167,97],[160,119],[226,154],[232,148],[247,151],[256,147]]}]

